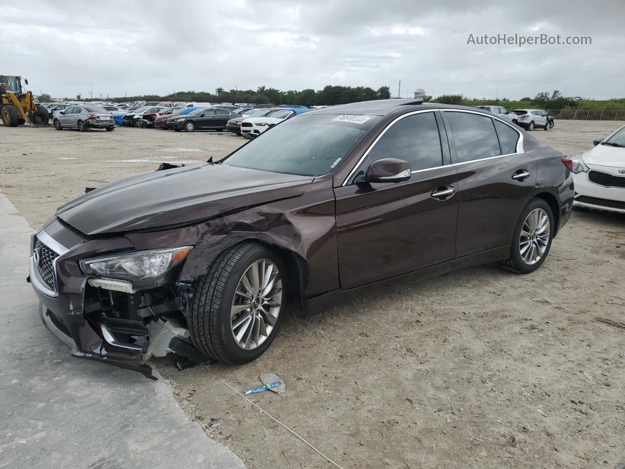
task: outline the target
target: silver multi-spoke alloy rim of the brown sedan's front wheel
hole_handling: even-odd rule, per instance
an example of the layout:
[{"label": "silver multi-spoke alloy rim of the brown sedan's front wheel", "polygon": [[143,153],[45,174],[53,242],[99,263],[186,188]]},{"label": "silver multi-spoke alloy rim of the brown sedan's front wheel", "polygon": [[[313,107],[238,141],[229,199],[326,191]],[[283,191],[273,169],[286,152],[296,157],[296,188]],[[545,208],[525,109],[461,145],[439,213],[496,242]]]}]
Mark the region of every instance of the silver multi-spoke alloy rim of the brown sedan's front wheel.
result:
[{"label": "silver multi-spoke alloy rim of the brown sedan's front wheel", "polygon": [[230,310],[234,341],[243,350],[254,350],[267,340],[280,314],[282,279],[269,259],[254,261],[241,276]]}]

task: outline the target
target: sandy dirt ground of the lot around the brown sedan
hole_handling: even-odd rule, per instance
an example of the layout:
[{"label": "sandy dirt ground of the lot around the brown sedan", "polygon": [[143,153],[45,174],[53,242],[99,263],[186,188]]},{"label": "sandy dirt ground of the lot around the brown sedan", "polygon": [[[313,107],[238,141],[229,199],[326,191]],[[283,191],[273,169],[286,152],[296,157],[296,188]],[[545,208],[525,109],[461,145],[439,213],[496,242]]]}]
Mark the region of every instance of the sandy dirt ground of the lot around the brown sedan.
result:
[{"label": "sandy dirt ground of the lot around the brown sedan", "polygon": [[[570,156],[623,122],[556,121],[534,136]],[[161,161],[201,162],[231,134],[0,128],[0,191],[36,226],[56,206]],[[246,366],[178,371],[176,398],[250,468],[625,468],[625,215],[574,211],[531,275],[496,265],[371,288],[287,316]],[[146,386],[149,382],[146,380]],[[155,425],[166,425],[155,416]]]}]

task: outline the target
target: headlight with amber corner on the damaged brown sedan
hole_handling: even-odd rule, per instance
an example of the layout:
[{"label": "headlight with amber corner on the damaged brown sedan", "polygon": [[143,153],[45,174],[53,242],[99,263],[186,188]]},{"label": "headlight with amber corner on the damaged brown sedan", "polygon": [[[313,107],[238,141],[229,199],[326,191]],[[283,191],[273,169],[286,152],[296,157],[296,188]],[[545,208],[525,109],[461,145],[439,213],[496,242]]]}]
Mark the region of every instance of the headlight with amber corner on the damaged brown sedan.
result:
[{"label": "headlight with amber corner on the damaged brown sedan", "polygon": [[193,246],[181,248],[135,251],[113,256],[80,261],[81,269],[88,275],[121,278],[125,280],[154,279],[164,275],[182,261]]}]

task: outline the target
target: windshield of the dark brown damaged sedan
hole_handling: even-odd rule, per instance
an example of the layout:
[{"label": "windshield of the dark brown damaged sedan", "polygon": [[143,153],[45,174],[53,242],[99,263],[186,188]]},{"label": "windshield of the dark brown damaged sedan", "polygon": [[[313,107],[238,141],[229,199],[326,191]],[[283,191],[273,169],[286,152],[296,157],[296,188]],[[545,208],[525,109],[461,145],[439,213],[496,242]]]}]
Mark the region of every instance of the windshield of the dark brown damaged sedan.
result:
[{"label": "windshield of the dark brown damaged sedan", "polygon": [[[379,116],[361,124],[321,114],[288,119],[239,148],[224,164],[273,173],[319,176],[341,163]],[[361,119],[361,120],[362,120]]]}]

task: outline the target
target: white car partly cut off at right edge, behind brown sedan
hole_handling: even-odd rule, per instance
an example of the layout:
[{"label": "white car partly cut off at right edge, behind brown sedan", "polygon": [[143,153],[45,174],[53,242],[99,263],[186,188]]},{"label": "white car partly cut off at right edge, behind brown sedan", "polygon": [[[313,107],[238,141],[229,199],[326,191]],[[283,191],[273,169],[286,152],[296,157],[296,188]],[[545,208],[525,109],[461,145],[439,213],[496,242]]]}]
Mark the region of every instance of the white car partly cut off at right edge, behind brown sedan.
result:
[{"label": "white car partly cut off at right edge, behind brown sedan", "polygon": [[571,159],[573,204],[625,213],[625,126]]}]

